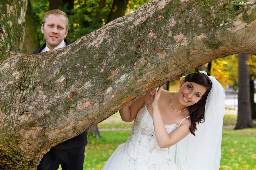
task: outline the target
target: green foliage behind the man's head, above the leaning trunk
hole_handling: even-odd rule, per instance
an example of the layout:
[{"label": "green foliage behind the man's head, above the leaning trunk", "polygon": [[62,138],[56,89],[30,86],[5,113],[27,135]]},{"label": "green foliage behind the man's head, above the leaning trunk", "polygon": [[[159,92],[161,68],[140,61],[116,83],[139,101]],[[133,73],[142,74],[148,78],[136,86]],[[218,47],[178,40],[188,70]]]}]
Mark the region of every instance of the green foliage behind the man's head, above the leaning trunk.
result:
[{"label": "green foliage behind the man's head, above the leaning trunk", "polygon": [[[149,0],[131,0],[128,2],[125,14],[129,14],[137,10],[141,5]],[[32,6],[32,14],[34,15],[36,32],[40,40],[40,45],[45,43],[44,35],[41,32],[41,25],[46,12],[50,10],[49,1],[30,0]],[[108,15],[112,8],[113,0],[106,0],[104,8],[99,8],[100,0],[75,0],[74,9],[68,10],[64,4],[59,7],[68,14],[69,18],[69,33],[66,39],[69,42],[74,42],[80,37],[96,31],[106,24]]]}]

